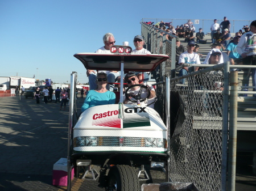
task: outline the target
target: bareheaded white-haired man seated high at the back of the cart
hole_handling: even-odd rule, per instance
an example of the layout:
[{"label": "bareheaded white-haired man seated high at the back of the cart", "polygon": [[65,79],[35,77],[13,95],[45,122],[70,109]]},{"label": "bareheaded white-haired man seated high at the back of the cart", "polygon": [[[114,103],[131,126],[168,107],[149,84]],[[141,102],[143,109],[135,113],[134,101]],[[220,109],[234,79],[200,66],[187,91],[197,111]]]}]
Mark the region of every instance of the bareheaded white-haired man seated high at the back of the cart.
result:
[{"label": "bareheaded white-haired man seated high at the back of the cart", "polygon": [[[96,50],[96,53],[103,53],[103,54],[110,53],[110,46],[115,44],[115,38],[114,38],[113,34],[112,33],[106,33],[103,36],[103,43],[104,43],[104,46],[102,46],[101,48]],[[117,80],[117,77],[119,76],[118,71],[101,70],[101,71],[98,71],[98,72],[106,73],[108,82],[110,82],[110,83],[114,83]],[[87,70],[86,74],[87,74],[87,77],[89,79],[90,90],[95,90],[97,88],[97,83],[95,83],[96,82],[96,71],[95,70]],[[114,84],[108,84],[106,88],[109,91],[113,91]]]}]

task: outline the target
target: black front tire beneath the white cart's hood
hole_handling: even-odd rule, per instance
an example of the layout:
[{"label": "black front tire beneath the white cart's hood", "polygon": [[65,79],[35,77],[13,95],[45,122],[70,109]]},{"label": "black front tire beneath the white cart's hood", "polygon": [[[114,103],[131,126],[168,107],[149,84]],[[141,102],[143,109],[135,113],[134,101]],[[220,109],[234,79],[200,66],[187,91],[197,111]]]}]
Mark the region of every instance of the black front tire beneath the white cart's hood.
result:
[{"label": "black front tire beneath the white cart's hood", "polygon": [[114,165],[108,173],[107,191],[139,191],[139,178],[129,165]]}]

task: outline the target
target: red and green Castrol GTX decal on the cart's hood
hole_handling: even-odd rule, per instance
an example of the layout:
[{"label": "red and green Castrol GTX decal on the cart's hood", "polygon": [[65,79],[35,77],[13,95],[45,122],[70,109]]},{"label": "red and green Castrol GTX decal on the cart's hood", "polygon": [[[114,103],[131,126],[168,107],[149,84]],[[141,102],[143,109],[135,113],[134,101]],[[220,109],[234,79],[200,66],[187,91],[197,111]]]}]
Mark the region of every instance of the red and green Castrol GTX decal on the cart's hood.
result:
[{"label": "red and green Castrol GTX decal on the cart's hood", "polygon": [[[122,120],[121,118],[118,118],[118,114],[118,110],[94,113],[92,116],[92,125],[111,128],[150,126],[150,117],[146,112],[146,107],[125,108]],[[121,126],[121,122],[123,122],[123,126]]]}]

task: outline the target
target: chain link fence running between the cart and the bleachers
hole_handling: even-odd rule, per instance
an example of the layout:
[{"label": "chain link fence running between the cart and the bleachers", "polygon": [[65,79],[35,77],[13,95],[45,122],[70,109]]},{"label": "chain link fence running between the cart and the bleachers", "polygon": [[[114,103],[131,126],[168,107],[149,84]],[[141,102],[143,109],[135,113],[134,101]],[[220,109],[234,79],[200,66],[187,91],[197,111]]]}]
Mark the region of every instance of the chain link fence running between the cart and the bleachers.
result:
[{"label": "chain link fence running between the cart and the bleachers", "polygon": [[[156,71],[156,82],[171,77],[170,179],[194,182],[199,190],[221,190],[224,65],[176,77],[175,36],[142,23],[146,49],[170,59]],[[172,38],[173,37],[173,38]],[[207,71],[206,71],[207,70]],[[176,77],[176,78],[175,78]],[[158,83],[156,111],[164,116],[164,83]],[[163,120],[165,121],[166,119]],[[226,177],[225,177],[226,178]]]}]

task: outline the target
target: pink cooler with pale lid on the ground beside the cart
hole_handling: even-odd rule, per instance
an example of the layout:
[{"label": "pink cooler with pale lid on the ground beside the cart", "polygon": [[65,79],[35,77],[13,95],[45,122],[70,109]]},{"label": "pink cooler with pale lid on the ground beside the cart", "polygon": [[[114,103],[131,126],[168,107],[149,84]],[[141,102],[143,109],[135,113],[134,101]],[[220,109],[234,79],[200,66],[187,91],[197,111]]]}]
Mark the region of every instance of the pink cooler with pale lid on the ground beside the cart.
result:
[{"label": "pink cooler with pale lid on the ground beside the cart", "polygon": [[[74,177],[74,168],[71,171],[71,180]],[[55,186],[68,185],[68,162],[66,158],[61,158],[53,165],[52,184]]]}]

